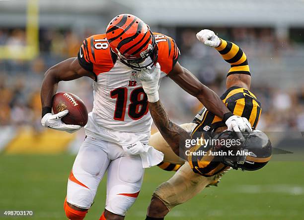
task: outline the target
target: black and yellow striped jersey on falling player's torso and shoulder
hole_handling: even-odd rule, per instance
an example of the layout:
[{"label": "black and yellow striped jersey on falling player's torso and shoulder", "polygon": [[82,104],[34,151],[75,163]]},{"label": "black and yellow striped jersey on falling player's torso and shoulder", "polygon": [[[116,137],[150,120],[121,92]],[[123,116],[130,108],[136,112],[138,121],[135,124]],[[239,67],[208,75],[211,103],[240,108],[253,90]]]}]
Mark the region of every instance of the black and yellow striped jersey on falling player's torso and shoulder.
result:
[{"label": "black and yellow striped jersey on falling player's torso and shoulder", "polygon": [[[260,102],[252,92],[245,88],[233,86],[221,96],[221,99],[234,115],[247,118],[251,126],[256,128],[262,109]],[[206,108],[203,108],[202,111],[195,116],[193,123],[197,124],[197,126],[191,133],[192,138],[201,138],[203,135],[206,139],[210,132],[215,131],[219,127],[226,126],[220,117],[211,113]],[[190,149],[190,152],[201,150],[209,151],[211,150],[210,148],[211,147],[204,148],[204,146],[195,146]],[[188,156],[188,162],[194,172],[208,177],[229,168],[216,160],[215,156],[208,154],[209,153],[204,156],[194,156],[190,154]]]}]

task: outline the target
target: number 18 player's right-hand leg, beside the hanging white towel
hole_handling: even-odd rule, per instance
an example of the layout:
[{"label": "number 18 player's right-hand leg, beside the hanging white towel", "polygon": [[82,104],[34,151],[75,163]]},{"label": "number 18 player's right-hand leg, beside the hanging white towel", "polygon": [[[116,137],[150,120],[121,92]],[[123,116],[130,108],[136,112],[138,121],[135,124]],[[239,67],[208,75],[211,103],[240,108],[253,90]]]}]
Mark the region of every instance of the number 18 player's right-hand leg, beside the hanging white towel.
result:
[{"label": "number 18 player's right-hand leg, beside the hanging white towel", "polygon": [[[139,155],[122,156],[110,162],[107,176],[106,220],[123,220],[137,199],[144,176]],[[102,219],[101,219],[102,220]]]}]

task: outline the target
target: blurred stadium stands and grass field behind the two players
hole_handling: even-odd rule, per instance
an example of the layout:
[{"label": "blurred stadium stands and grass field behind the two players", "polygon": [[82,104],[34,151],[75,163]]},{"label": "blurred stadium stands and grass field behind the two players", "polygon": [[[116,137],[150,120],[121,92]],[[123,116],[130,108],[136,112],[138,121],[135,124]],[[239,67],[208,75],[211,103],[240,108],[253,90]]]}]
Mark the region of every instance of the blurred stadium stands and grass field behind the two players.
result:
[{"label": "blurred stadium stands and grass field behind the two players", "polygon": [[[212,29],[242,47],[251,91],[262,103],[258,129],[280,134],[273,135],[275,143],[303,146],[303,138],[285,135],[304,131],[303,0],[0,0],[1,212],[33,210],[29,219],[65,219],[66,182],[84,133],[70,135],[40,125],[41,81],[49,67],[75,57],[84,38],[103,33],[120,13],[135,14],[152,31],[173,37],[181,51],[179,62],[219,95],[229,66],[195,34]],[[75,93],[91,110],[91,83],[88,78],[61,82],[59,90]],[[178,123],[191,121],[202,107],[169,78],[161,82],[160,97]],[[304,219],[303,165],[302,158],[272,161],[252,173],[232,171],[219,187],[204,190],[166,219]],[[126,219],[144,219],[152,191],[172,174],[157,167],[146,170]],[[103,180],[88,220],[101,215],[104,197]]]}]

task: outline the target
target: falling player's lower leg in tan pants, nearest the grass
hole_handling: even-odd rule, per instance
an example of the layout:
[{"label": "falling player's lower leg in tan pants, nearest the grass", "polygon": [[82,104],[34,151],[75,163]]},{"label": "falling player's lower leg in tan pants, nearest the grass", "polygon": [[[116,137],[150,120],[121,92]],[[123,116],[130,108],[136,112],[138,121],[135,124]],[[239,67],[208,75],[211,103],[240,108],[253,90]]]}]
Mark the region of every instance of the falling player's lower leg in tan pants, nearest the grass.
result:
[{"label": "falling player's lower leg in tan pants, nearest the grass", "polygon": [[156,188],[148,208],[147,220],[163,219],[173,207],[187,202],[219,178],[220,175],[204,177],[196,174],[186,162],[171,179]]}]

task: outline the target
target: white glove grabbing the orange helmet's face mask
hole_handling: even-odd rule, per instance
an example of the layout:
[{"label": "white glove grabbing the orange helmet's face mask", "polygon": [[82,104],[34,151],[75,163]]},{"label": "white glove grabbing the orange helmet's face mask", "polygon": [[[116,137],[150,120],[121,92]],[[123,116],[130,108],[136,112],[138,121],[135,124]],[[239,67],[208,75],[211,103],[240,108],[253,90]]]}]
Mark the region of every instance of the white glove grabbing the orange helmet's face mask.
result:
[{"label": "white glove grabbing the orange helmet's face mask", "polygon": [[159,100],[158,95],[158,80],[160,77],[160,65],[156,63],[154,70],[147,67],[141,70],[138,74],[138,78],[141,80],[143,89],[148,96],[149,102],[157,102]]}]

